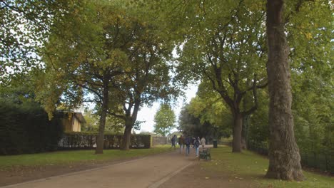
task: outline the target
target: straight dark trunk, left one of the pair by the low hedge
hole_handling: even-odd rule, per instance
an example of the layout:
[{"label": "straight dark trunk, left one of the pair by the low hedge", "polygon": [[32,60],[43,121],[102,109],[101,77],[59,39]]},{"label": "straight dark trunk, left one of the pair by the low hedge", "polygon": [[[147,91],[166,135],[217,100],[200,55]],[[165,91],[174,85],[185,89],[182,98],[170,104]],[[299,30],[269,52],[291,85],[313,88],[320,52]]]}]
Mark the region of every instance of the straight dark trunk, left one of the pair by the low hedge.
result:
[{"label": "straight dark trunk, left one of the pair by the low hedge", "polygon": [[108,80],[103,80],[103,100],[102,100],[102,110],[100,121],[98,125],[98,137],[96,140],[96,150],[95,154],[103,154],[103,145],[104,145],[104,127],[106,126],[106,114],[108,110]]}]

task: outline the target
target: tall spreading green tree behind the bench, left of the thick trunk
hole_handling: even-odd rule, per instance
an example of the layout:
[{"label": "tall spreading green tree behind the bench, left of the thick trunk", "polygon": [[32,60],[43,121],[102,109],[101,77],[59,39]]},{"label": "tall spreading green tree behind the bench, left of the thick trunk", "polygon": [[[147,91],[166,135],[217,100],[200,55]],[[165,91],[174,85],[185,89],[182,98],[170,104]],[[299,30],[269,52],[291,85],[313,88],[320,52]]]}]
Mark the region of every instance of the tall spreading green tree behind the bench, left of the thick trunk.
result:
[{"label": "tall spreading green tree behind the bench, left of the thick trunk", "polygon": [[[265,11],[259,11],[260,1],[228,1],[224,9],[220,1],[201,2],[198,12],[187,15],[191,21],[179,51],[179,73],[186,82],[201,77],[221,95],[233,115],[233,152],[241,152],[243,117],[256,110],[256,90],[267,84]],[[253,101],[243,108],[249,93]]]}]

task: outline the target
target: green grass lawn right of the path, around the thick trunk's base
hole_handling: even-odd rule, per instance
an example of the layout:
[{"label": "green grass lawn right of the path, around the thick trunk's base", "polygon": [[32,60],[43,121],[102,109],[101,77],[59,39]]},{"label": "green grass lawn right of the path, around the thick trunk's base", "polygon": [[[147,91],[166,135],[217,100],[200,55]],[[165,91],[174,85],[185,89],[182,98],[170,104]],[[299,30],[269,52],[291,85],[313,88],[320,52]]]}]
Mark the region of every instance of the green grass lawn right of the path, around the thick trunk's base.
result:
[{"label": "green grass lawn right of the path, around the thick trunk's base", "polygon": [[253,152],[243,151],[232,153],[231,147],[219,145],[211,150],[211,162],[202,162],[205,169],[217,173],[229,174],[231,181],[249,179],[259,187],[330,187],[334,188],[334,177],[328,177],[313,172],[304,171],[306,180],[303,182],[287,182],[275,179],[265,179],[268,169],[268,159]]}]

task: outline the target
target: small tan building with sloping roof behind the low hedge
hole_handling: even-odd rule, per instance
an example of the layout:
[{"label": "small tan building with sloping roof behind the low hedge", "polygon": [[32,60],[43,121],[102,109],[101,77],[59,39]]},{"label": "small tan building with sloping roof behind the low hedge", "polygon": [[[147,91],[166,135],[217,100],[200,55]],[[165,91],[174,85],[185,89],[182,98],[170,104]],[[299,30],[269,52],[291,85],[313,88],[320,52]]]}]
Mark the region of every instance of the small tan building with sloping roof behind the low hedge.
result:
[{"label": "small tan building with sloping roof behind the low hedge", "polygon": [[86,123],[82,113],[62,112],[61,124],[65,132],[81,132],[81,125]]}]

